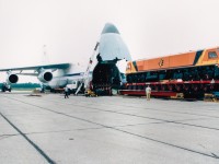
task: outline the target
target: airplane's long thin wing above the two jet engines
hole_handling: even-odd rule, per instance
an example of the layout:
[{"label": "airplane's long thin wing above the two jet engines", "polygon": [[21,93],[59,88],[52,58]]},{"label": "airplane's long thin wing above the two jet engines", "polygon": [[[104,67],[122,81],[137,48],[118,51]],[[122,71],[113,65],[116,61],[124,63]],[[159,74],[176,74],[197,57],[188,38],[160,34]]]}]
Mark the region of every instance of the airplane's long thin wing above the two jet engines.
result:
[{"label": "airplane's long thin wing above the two jet engines", "polygon": [[41,69],[68,69],[70,63],[57,63],[57,65],[44,65],[44,66],[34,66],[34,67],[21,67],[21,68],[9,68],[0,69],[0,72],[4,71],[23,71],[23,70],[41,70]]}]

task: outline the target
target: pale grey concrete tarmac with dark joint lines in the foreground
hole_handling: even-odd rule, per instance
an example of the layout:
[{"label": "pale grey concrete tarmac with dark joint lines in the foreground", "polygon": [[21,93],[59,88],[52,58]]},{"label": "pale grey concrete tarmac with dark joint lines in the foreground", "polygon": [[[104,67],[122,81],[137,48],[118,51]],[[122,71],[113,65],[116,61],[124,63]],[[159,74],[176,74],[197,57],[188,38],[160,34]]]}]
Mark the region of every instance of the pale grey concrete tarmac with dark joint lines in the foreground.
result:
[{"label": "pale grey concrete tarmac with dark joint lines in the foreground", "polygon": [[1,164],[218,164],[219,104],[0,94]]}]

